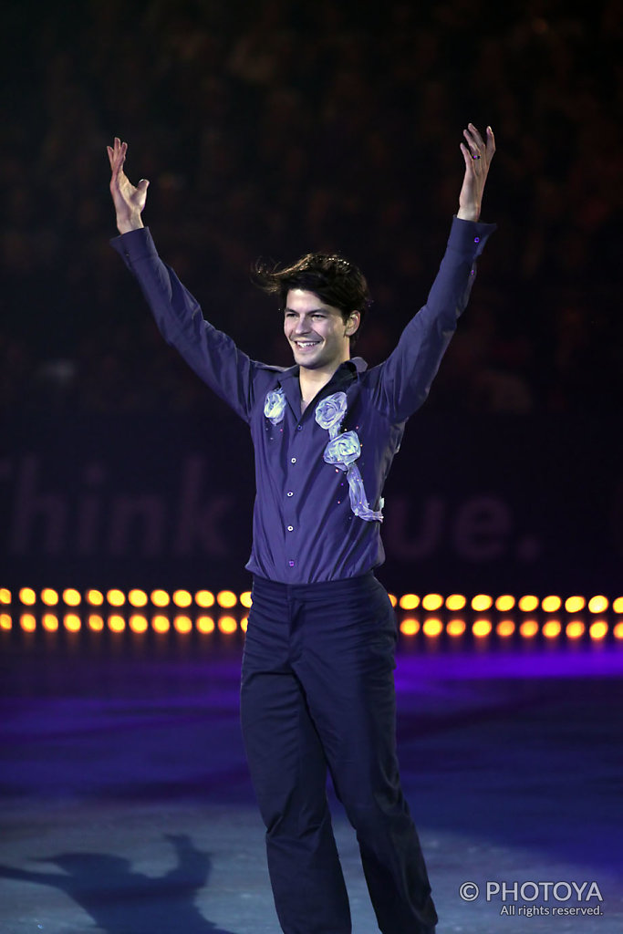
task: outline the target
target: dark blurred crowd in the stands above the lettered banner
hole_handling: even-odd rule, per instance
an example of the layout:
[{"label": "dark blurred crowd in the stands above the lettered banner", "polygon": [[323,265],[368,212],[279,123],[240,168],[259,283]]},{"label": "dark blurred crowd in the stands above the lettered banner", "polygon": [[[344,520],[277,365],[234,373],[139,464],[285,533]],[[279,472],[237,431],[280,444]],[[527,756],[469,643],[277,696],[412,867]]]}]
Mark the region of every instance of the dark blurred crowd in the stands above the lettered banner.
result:
[{"label": "dark blurred crowd in the stands above the lettered banner", "polygon": [[194,413],[115,235],[106,143],[150,180],[145,221],[206,317],[288,365],[260,257],[338,250],[381,361],[424,303],[462,177],[498,144],[498,232],[432,409],[614,412],[621,394],[623,34],[618,0],[17,0],[3,12],[0,405]]}]

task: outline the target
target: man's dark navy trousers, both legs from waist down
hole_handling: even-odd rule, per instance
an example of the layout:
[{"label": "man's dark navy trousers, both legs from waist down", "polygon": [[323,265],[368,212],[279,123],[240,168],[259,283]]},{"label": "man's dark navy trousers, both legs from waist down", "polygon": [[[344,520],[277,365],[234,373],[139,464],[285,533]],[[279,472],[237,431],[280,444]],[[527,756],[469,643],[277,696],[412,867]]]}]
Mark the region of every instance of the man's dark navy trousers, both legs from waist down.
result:
[{"label": "man's dark navy trousers, both legs from waist down", "polygon": [[349,934],[327,768],[357,832],[383,934],[432,934],[437,915],[400,785],[396,619],[374,574],[322,584],[256,578],[241,717],[285,934]]}]

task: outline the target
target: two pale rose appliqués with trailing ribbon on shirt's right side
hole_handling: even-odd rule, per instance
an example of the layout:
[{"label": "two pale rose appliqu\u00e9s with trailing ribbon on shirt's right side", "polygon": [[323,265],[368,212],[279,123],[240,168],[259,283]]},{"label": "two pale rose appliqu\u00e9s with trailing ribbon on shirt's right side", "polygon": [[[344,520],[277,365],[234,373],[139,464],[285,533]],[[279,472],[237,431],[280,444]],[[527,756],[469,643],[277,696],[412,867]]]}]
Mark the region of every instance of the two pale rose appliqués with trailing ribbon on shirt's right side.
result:
[{"label": "two pale rose appliqu\u00e9s with trailing ribbon on shirt's right side", "polygon": [[[383,513],[370,508],[365,495],[361,472],[356,461],[361,455],[361,442],[357,432],[341,432],[347,414],[346,392],[334,392],[316,406],[316,421],[329,432],[330,441],[324,449],[324,460],[347,474],[350,508],[355,516],[366,522],[382,522]],[[340,433],[341,432],[341,433]],[[381,502],[381,506],[383,503]]]}]

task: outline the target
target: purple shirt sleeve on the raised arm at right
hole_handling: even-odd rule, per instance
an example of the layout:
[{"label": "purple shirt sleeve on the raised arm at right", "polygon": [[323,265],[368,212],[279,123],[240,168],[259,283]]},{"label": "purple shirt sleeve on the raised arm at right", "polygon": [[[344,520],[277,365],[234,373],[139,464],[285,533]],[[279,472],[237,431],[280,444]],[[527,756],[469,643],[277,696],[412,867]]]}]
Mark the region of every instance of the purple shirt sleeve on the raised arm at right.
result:
[{"label": "purple shirt sleeve on the raised arm at right", "polygon": [[475,261],[495,229],[495,224],[453,219],[426,304],[411,318],[388,359],[375,367],[377,402],[389,420],[404,421],[426,400],[469,300]]}]

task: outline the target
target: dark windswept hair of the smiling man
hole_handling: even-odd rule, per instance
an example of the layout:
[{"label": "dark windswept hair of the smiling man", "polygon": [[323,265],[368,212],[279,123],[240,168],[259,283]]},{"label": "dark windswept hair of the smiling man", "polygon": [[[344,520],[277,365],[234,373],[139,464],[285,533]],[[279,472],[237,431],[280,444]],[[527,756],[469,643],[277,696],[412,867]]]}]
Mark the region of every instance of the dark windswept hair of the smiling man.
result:
[{"label": "dark windswept hair of the smiling man", "polygon": [[339,308],[345,321],[351,312],[359,311],[360,326],[351,334],[351,344],[359,336],[363,316],[372,304],[368,283],[361,270],[335,253],[307,253],[284,269],[257,262],[253,282],[268,295],[278,296],[282,311],[290,289],[314,292],[324,304]]}]

